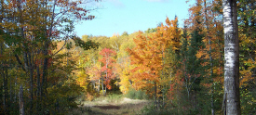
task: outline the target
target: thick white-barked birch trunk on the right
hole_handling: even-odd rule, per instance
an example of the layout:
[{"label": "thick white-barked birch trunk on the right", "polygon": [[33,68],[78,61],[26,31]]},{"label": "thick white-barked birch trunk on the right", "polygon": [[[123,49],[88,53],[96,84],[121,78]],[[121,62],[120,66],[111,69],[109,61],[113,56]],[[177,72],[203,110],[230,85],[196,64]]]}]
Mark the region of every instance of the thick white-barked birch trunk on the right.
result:
[{"label": "thick white-barked birch trunk on the right", "polygon": [[224,114],[240,115],[236,0],[222,0],[224,21]]}]

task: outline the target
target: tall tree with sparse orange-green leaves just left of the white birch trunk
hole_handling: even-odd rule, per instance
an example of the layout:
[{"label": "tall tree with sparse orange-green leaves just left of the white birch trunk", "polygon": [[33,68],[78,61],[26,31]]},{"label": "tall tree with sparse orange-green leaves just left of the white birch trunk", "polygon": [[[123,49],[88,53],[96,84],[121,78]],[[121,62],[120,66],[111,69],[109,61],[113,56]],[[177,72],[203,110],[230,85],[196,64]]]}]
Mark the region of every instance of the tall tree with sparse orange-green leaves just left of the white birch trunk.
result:
[{"label": "tall tree with sparse orange-green leaves just left of the white birch trunk", "polygon": [[[221,101],[214,99],[215,96],[220,96],[222,87],[222,1],[220,0],[201,0],[201,15],[202,15],[202,39],[203,47],[200,47],[196,57],[201,60],[202,70],[204,72],[204,81],[202,84],[210,93],[211,114],[220,112],[219,106]],[[218,18],[219,17],[219,18]],[[217,87],[217,85],[219,87]],[[221,95],[222,96],[222,95]],[[214,106],[214,105],[217,106]]]}]

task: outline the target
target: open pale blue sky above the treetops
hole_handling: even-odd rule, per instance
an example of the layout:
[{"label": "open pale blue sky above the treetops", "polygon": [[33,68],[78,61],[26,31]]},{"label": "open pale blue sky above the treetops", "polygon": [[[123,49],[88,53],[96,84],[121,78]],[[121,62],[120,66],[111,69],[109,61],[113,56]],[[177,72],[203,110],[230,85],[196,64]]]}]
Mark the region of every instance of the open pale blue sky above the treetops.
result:
[{"label": "open pale blue sky above the treetops", "polygon": [[186,0],[101,0],[90,4],[98,7],[90,12],[96,18],[80,21],[75,25],[76,34],[93,36],[113,36],[114,33],[146,31],[155,28],[160,22],[174,19],[178,16],[179,26],[183,19],[188,18],[188,8],[191,2]]}]

